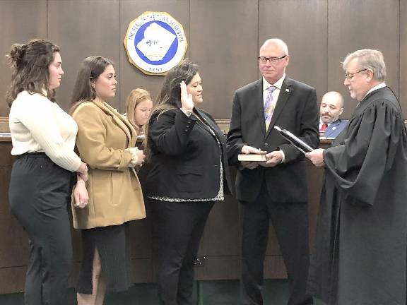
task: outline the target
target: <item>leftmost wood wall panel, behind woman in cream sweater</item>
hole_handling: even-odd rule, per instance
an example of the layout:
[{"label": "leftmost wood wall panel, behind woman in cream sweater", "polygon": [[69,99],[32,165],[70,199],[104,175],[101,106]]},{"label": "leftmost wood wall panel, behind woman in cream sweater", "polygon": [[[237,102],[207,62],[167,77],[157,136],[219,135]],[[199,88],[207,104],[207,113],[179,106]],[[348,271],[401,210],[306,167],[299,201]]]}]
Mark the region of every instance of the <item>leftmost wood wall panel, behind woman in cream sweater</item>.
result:
[{"label": "leftmost wood wall panel, behind woman in cream sweater", "polygon": [[47,37],[47,0],[0,1],[0,116],[8,116],[4,95],[11,81],[11,68],[4,55],[11,44]]}]

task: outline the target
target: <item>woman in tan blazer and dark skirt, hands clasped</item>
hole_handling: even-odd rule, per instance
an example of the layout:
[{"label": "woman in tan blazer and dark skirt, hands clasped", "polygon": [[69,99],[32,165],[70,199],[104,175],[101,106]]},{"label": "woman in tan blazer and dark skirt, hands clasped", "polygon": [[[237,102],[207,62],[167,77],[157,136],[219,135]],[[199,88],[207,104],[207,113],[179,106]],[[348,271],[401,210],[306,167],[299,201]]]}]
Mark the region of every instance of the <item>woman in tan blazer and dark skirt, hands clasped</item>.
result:
[{"label": "woman in tan blazer and dark skirt, hands clasped", "polygon": [[88,205],[73,203],[73,226],[81,229],[83,262],[78,305],[102,304],[105,292],[122,291],[133,283],[129,271],[128,222],[146,217],[134,166],[143,150],[135,148],[136,131],[105,100],[114,97],[117,80],[112,61],[86,58],[73,90],[72,116],[78,124],[76,148],[88,164]]}]

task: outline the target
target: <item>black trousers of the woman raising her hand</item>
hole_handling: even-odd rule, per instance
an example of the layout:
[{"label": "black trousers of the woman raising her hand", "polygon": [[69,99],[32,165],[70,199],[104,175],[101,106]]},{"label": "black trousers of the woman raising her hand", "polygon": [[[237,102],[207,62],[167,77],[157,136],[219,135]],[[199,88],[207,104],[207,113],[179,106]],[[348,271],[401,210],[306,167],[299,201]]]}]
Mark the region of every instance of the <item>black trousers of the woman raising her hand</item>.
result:
[{"label": "black trousers of the woman raising her hand", "polygon": [[213,201],[150,199],[161,305],[192,305],[194,261]]}]

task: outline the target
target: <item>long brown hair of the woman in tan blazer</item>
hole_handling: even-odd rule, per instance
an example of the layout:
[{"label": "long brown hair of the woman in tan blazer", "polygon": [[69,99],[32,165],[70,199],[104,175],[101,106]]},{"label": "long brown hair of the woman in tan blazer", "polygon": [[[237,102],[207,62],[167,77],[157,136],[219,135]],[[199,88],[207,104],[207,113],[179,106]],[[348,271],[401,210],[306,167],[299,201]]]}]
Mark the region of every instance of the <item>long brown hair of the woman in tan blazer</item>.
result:
[{"label": "long brown hair of the woman in tan blazer", "polygon": [[83,102],[95,100],[96,92],[92,85],[110,65],[113,61],[102,56],[89,56],[82,61],[73,86],[71,112]]}]

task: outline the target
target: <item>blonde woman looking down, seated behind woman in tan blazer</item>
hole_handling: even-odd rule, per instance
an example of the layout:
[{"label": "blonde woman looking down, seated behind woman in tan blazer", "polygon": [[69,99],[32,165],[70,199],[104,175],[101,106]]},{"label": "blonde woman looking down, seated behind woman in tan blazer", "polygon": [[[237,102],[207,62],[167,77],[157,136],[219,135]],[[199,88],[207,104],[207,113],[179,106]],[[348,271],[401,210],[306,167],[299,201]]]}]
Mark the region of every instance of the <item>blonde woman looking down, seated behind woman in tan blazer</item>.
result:
[{"label": "blonde woman looking down, seated behind woman in tan blazer", "polygon": [[153,100],[147,90],[134,89],[126,100],[126,117],[137,131],[137,135],[144,134],[144,125],[150,118]]}]

